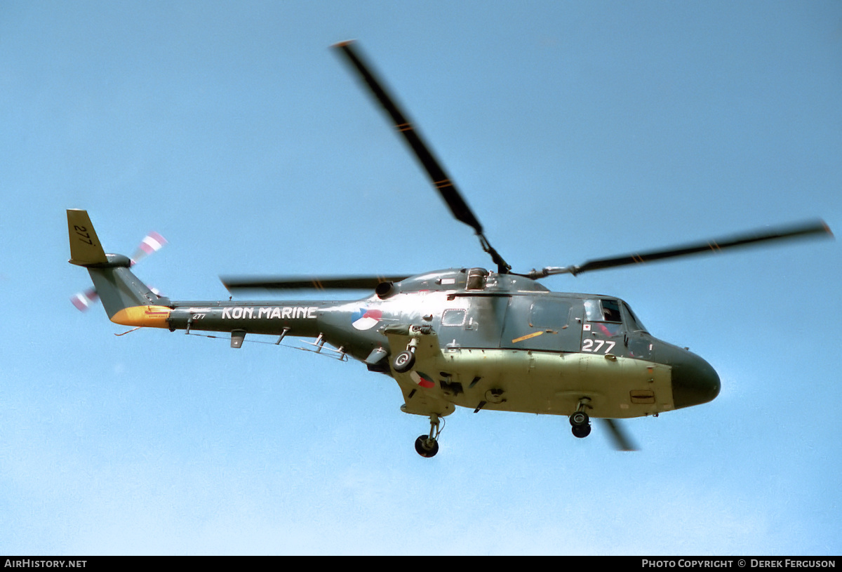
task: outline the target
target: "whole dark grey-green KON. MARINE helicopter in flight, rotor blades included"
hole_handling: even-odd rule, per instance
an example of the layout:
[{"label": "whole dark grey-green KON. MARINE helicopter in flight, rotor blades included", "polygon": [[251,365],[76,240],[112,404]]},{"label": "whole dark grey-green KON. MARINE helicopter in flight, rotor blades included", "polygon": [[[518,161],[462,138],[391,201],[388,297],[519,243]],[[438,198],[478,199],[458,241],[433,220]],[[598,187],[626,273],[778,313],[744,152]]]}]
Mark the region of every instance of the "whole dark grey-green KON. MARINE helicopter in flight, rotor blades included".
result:
[{"label": "whole dark grey-green KON. MARINE helicopter in flight, rotor blades included", "polygon": [[[368,290],[356,301],[173,302],[132,274],[133,261],[105,254],[87,211],[68,210],[70,262],[88,269],[112,322],[135,328],[315,339],[317,351],[391,376],[402,411],[429,418],[415,450],[439,450],[441,419],[456,406],[567,415],[577,437],[605,420],[617,448],[633,450],[618,421],[704,404],[717,372],[701,357],[653,337],[616,297],[549,291],[538,280],[791,238],[832,236],[821,221],[671,249],[594,259],[520,274],[483,233],[456,185],[383,84],[349,42],[336,46],[392,119],[458,221],[472,227],[496,270],[451,268],[421,275],[223,278],[229,291]],[[326,346],[329,345],[329,346]],[[332,347],[331,347],[332,346]]]}]

